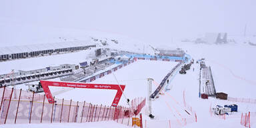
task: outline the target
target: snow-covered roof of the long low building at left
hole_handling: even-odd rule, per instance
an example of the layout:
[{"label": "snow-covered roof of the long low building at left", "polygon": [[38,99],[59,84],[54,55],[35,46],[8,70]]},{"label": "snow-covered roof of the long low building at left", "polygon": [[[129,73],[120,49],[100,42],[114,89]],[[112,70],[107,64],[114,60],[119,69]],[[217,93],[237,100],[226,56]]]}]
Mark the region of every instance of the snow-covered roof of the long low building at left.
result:
[{"label": "snow-covered roof of the long low building at left", "polygon": [[62,49],[67,47],[79,47],[86,45],[95,45],[90,40],[87,41],[66,41],[59,43],[45,43],[36,45],[22,45],[12,47],[0,47],[0,55],[13,54],[13,53],[27,53],[31,51],[43,51],[49,49]]}]

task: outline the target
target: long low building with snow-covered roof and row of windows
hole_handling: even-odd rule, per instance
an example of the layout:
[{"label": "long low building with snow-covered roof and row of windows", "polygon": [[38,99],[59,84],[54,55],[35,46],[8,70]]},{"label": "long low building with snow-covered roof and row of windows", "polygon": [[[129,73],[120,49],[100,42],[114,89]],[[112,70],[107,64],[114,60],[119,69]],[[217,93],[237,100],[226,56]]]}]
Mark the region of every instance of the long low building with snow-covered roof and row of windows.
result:
[{"label": "long low building with snow-covered roof and row of windows", "polygon": [[91,41],[69,41],[60,43],[0,47],[0,61],[69,53],[73,51],[86,50],[90,47],[96,47],[96,44],[91,43]]}]

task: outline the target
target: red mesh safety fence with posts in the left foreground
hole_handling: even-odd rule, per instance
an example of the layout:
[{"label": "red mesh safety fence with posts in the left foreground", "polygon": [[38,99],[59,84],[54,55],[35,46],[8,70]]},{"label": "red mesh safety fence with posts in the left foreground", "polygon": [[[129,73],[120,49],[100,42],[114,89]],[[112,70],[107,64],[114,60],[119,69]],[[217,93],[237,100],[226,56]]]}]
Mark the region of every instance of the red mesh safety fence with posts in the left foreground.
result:
[{"label": "red mesh safety fence with posts in the left foreground", "polygon": [[[145,106],[145,98],[132,100],[131,108],[93,105],[91,103],[55,99],[48,103],[45,95],[19,91],[14,98],[15,89],[1,88],[0,124],[13,123],[85,123],[95,121],[117,121],[131,125],[131,117],[140,113]],[[29,94],[29,96],[27,96]],[[30,95],[32,95],[30,99]],[[36,95],[40,98],[35,101]],[[21,98],[23,97],[23,98]],[[29,97],[25,99],[24,97]],[[41,100],[41,97],[43,99]],[[136,101],[136,103],[135,103]]]}]

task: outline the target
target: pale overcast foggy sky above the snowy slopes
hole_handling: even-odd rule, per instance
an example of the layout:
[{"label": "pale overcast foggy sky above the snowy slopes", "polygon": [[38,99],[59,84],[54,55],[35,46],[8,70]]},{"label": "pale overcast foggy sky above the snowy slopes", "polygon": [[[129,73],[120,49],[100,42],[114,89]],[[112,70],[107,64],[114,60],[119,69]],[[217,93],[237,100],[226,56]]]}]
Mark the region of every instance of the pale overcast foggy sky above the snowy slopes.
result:
[{"label": "pale overcast foggy sky above the snowy slopes", "polygon": [[[171,37],[197,37],[205,32],[243,35],[246,24],[247,34],[253,35],[255,13],[255,0],[0,0],[0,41],[14,41],[15,31],[23,34],[16,33],[17,38],[45,33],[40,27],[101,31],[166,43]],[[35,28],[32,33],[11,24]]]}]

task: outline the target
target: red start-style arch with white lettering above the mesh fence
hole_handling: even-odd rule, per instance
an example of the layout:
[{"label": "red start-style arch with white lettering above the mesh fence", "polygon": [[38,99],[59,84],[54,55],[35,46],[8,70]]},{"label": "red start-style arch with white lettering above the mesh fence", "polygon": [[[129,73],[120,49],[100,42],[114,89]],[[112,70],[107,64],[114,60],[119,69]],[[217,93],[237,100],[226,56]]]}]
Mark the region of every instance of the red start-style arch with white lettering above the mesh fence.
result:
[{"label": "red start-style arch with white lettering above the mesh fence", "polygon": [[45,96],[47,97],[49,103],[54,103],[53,95],[49,86],[55,87],[75,87],[75,88],[85,88],[85,89],[111,89],[117,90],[117,94],[113,100],[112,106],[116,107],[121,99],[125,85],[109,85],[109,84],[96,84],[96,83],[71,83],[71,82],[57,82],[57,81],[40,81],[43,91],[45,91]]}]

